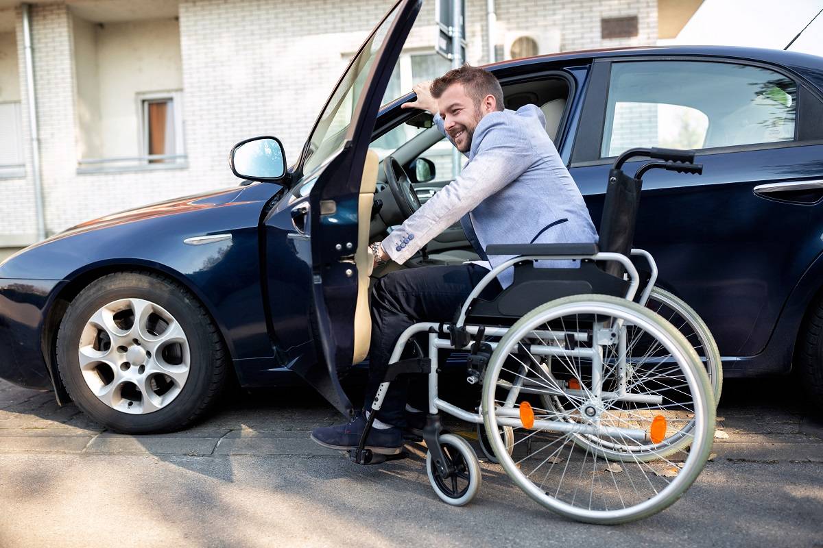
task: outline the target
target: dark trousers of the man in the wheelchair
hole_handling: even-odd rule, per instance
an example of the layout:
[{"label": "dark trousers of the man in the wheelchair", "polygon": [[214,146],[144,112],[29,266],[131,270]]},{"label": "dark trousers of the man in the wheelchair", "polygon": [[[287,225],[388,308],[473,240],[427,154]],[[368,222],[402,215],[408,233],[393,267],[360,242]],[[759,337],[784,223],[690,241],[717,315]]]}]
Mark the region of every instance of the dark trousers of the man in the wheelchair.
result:
[{"label": "dark trousers of the man in the wheelchair", "polygon": [[[388,360],[404,330],[420,321],[452,321],[454,313],[488,274],[478,265],[427,266],[397,270],[374,283],[371,292],[371,346],[369,351],[369,385],[365,391],[365,408],[370,408],[380,383],[384,380]],[[481,297],[491,298],[501,291],[497,280],[490,283]],[[425,351],[425,347],[424,347]],[[418,375],[421,377],[421,375]],[[415,401],[412,406],[427,409],[425,383],[412,383]],[[388,387],[377,417],[394,426],[406,426],[405,408],[409,396],[408,375],[401,375]]]}]

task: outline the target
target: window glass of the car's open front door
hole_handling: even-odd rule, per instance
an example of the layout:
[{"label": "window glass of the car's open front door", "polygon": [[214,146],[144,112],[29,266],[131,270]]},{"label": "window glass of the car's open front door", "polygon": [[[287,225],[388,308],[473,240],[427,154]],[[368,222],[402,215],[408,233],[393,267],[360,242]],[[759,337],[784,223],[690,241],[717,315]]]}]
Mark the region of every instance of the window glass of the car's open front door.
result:
[{"label": "window glass of the car's open front door", "polygon": [[365,80],[388,34],[388,29],[397,15],[398,6],[395,6],[386,16],[360,49],[360,53],[351,62],[337,90],[334,90],[332,99],[320,114],[317,127],[309,136],[309,150],[306,151],[303,173],[313,171],[343,145],[360,94],[365,90]]}]

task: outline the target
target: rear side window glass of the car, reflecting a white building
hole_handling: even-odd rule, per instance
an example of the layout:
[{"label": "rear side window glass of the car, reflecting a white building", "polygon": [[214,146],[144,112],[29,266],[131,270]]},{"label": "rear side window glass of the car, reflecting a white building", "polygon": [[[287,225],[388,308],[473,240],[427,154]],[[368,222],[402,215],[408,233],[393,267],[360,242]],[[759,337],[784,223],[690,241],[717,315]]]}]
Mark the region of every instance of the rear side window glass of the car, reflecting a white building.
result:
[{"label": "rear side window glass of the car, reflecting a white building", "polygon": [[616,62],[601,158],[637,146],[709,149],[793,140],[797,85],[728,62]]}]

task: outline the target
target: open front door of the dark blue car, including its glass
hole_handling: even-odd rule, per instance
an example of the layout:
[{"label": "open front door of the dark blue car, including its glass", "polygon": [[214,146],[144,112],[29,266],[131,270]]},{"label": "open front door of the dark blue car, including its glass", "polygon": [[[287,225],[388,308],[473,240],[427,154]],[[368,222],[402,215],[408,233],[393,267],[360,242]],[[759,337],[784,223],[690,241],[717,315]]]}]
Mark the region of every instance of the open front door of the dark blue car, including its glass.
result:
[{"label": "open front door of the dark blue car, including its glass", "polygon": [[338,373],[369,351],[374,121],[422,0],[399,0],[360,46],[328,99],[296,172],[314,178],[305,211],[312,249],[314,335],[323,361],[298,371],[339,411],[354,410]]}]

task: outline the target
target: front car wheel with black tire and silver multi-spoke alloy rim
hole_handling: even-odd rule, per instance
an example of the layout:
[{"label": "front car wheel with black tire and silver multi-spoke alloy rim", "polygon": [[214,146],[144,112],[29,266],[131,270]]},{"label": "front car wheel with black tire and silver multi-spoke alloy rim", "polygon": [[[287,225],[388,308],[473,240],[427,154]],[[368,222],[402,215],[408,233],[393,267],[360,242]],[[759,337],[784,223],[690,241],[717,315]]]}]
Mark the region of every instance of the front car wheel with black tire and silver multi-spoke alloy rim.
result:
[{"label": "front car wheel with black tire and silver multi-spoke alloy rim", "polygon": [[[123,310],[112,312],[119,306]],[[154,357],[148,348],[156,350]],[[211,316],[187,288],[160,274],[133,271],[105,275],[77,294],[63,316],[56,350],[60,377],[77,407],[124,434],[192,425],[221,394],[229,362]],[[89,354],[104,361],[95,364]],[[144,395],[148,391],[151,397]]]}]

